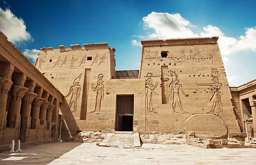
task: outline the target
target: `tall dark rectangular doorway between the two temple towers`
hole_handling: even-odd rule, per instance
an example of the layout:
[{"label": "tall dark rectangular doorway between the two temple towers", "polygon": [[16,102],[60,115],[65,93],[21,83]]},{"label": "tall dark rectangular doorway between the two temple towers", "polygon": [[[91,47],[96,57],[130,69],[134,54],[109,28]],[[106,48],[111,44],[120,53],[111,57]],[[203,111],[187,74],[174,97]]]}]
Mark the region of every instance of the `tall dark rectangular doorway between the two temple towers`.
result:
[{"label": "tall dark rectangular doorway between the two temple towers", "polygon": [[134,95],[117,95],[116,131],[133,131]]}]

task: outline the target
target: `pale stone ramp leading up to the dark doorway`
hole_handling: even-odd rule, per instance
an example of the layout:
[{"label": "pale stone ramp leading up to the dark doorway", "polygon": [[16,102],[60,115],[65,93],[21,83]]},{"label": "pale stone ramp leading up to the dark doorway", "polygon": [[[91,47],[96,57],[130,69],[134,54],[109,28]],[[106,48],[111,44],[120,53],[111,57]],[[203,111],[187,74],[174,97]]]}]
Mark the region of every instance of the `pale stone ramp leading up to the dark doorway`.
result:
[{"label": "pale stone ramp leading up to the dark doorway", "polygon": [[99,144],[99,147],[122,147],[133,148],[140,147],[139,133],[133,132],[115,132],[108,133],[106,138]]}]

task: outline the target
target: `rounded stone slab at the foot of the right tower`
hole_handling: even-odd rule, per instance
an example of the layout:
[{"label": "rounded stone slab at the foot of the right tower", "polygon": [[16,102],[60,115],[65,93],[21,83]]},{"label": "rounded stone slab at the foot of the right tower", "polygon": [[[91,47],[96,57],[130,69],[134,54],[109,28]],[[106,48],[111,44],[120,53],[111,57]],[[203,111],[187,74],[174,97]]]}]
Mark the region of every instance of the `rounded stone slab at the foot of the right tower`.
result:
[{"label": "rounded stone slab at the foot of the right tower", "polygon": [[226,138],[228,133],[225,122],[214,114],[192,114],[185,121],[185,130],[211,139]]}]

